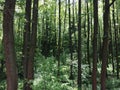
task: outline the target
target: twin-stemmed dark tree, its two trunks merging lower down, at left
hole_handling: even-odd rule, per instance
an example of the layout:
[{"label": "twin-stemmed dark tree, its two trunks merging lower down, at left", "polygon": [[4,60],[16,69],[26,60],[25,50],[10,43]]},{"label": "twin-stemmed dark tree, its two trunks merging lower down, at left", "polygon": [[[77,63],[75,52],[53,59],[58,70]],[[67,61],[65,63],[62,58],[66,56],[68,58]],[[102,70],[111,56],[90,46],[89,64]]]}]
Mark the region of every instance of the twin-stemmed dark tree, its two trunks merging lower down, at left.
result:
[{"label": "twin-stemmed dark tree, its two trunks merging lower down, at left", "polygon": [[[31,30],[31,4],[32,1],[26,1],[26,23],[24,32],[24,90],[32,90],[31,80],[34,79],[34,56],[37,42],[37,23],[38,23],[38,0],[33,1],[32,30]],[[29,8],[28,8],[29,7]]]}]

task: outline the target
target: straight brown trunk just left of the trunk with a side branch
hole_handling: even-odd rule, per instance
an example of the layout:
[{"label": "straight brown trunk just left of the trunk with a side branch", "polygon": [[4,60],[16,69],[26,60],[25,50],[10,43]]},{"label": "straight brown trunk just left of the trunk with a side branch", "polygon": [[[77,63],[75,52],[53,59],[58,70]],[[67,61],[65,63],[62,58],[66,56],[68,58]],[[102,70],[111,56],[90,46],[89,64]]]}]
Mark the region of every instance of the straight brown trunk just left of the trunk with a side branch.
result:
[{"label": "straight brown trunk just left of the trunk with a side branch", "polygon": [[93,0],[94,7],[94,36],[93,36],[93,71],[92,71],[92,90],[97,90],[97,34],[98,34],[98,0]]}]

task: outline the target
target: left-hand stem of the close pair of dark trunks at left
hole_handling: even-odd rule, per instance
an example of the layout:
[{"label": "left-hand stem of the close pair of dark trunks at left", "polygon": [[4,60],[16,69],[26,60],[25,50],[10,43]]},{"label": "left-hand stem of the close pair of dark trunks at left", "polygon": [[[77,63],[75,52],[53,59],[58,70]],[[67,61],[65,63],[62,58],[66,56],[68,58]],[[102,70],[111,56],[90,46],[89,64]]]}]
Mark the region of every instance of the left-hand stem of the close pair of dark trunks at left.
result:
[{"label": "left-hand stem of the close pair of dark trunks at left", "polygon": [[23,37],[23,74],[24,74],[24,90],[27,90],[27,73],[28,73],[28,59],[30,49],[30,27],[31,27],[31,0],[26,0],[25,8],[25,26]]}]

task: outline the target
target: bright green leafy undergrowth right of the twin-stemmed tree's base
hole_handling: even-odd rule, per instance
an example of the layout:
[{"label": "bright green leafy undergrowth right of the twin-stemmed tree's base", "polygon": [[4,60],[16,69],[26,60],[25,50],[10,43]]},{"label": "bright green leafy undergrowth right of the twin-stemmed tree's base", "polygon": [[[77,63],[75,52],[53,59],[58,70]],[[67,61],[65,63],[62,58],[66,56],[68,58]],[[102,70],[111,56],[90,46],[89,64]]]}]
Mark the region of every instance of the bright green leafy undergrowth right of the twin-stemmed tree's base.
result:
[{"label": "bright green leafy undergrowth right of the twin-stemmed tree's base", "polygon": [[[63,56],[64,57],[64,56]],[[61,58],[63,58],[61,57]],[[36,57],[36,74],[33,88],[34,90],[73,90],[69,80],[69,67],[60,67],[60,76],[57,77],[57,60],[54,57],[45,58],[41,54]]]}]

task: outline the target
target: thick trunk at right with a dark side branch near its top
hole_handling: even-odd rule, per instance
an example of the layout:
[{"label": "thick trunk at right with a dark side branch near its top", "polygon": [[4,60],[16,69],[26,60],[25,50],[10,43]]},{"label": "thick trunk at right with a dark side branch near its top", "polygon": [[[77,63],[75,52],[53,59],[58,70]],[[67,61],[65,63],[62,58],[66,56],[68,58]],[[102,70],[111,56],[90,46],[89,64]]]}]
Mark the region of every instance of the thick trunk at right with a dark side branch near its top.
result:
[{"label": "thick trunk at right with a dark side branch near its top", "polygon": [[102,68],[101,68],[101,90],[106,89],[106,72],[108,60],[108,46],[109,46],[109,0],[105,0],[104,14],[103,14],[103,46],[102,46]]}]

